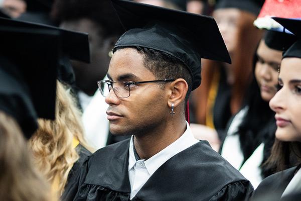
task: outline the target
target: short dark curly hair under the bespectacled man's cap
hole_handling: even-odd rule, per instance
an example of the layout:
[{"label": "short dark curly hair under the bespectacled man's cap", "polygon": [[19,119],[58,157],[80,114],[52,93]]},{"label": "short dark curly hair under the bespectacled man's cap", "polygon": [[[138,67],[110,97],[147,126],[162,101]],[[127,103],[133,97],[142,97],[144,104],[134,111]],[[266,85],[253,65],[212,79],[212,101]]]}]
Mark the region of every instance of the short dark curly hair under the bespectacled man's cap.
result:
[{"label": "short dark curly hair under the bespectacled man's cap", "polygon": [[192,90],[192,75],[182,61],[165,52],[140,46],[117,47],[114,48],[113,51],[115,52],[123,48],[133,48],[137,50],[137,52],[143,56],[143,65],[152,72],[157,79],[185,79],[188,84],[188,91],[185,97],[185,102],[187,102]]}]

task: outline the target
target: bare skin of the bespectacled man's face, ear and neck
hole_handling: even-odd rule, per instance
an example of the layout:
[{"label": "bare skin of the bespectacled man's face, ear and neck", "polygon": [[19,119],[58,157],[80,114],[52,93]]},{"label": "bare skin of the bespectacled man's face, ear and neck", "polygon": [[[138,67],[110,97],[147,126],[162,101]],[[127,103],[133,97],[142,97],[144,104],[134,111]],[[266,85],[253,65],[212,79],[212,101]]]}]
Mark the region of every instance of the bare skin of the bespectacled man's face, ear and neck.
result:
[{"label": "bare skin of the bespectacled man's face, ear and neck", "polygon": [[[108,77],[112,81],[157,80],[144,67],[143,56],[131,48],[113,54]],[[165,83],[164,88],[158,83],[135,85],[127,98],[118,98],[111,90],[105,98],[109,105],[107,113],[111,133],[134,134],[134,145],[140,158],[154,156],[185,132],[184,103],[187,91],[188,84],[182,78]],[[172,104],[175,107],[174,115],[170,114]]]}]

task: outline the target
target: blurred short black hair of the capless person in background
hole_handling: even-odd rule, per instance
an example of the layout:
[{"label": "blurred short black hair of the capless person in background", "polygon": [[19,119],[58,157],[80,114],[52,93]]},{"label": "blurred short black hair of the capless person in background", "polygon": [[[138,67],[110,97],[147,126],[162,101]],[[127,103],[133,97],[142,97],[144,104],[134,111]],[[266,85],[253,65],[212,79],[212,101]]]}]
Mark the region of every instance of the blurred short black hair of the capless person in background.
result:
[{"label": "blurred short black hair of the capless person in background", "polygon": [[51,11],[55,23],[87,18],[104,29],[104,37],[120,36],[124,29],[109,0],[56,0]]}]

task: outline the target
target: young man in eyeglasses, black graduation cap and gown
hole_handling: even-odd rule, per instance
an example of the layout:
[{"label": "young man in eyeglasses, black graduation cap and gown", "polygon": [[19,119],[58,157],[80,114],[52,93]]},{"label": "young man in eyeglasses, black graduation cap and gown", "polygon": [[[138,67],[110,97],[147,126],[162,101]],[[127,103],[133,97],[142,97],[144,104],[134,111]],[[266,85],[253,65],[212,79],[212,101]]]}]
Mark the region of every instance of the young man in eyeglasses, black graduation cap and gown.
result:
[{"label": "young man in eyeglasses, black graduation cap and gown", "polygon": [[185,121],[201,58],[230,62],[214,19],[112,3],[127,32],[113,49],[109,80],[98,85],[110,131],[132,136],[93,154],[65,200],[246,200],[249,181]]}]

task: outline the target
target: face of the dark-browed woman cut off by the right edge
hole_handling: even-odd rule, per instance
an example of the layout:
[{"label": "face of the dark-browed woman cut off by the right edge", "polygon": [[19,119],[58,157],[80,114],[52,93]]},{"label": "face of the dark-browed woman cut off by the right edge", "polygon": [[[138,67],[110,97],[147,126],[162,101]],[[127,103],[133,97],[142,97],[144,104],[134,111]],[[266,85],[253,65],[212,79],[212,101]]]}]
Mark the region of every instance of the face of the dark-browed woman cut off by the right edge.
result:
[{"label": "face of the dark-browed woman cut off by the right edge", "polygon": [[276,113],[276,138],[301,142],[301,59],[284,58],[278,78],[281,89],[270,100]]}]

